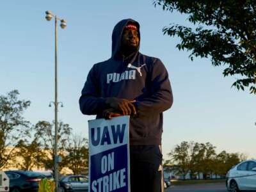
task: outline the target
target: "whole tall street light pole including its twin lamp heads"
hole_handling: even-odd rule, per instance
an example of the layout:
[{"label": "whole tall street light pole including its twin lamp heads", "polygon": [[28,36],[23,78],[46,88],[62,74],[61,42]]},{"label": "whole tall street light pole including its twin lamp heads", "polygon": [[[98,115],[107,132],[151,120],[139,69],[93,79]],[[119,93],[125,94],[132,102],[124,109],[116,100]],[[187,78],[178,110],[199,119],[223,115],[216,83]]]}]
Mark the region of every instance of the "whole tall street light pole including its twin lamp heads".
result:
[{"label": "whole tall street light pole including its twin lamp heads", "polygon": [[[58,163],[60,161],[60,158],[58,157],[58,104],[61,102],[58,102],[58,57],[57,57],[57,22],[58,20],[61,21],[61,28],[64,29],[67,24],[64,19],[59,19],[57,15],[54,15],[51,13],[51,11],[47,11],[45,19],[51,20],[52,16],[54,17],[54,22],[55,22],[55,98],[54,98],[54,182],[55,182],[55,192],[58,192],[58,182],[59,182],[59,169],[58,169]],[[50,105],[51,106],[51,102]],[[61,103],[61,107],[63,104]]]}]

